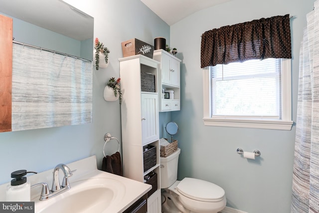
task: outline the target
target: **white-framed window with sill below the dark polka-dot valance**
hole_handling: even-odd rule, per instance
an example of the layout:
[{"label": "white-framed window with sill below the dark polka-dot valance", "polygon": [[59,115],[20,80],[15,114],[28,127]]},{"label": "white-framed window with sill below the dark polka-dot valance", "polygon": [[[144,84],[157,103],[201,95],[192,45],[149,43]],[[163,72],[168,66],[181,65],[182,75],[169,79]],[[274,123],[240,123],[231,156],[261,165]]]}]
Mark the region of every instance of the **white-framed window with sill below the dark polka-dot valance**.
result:
[{"label": "white-framed window with sill below the dark polka-dot valance", "polygon": [[204,70],[204,124],[291,130],[291,60],[268,58]]}]

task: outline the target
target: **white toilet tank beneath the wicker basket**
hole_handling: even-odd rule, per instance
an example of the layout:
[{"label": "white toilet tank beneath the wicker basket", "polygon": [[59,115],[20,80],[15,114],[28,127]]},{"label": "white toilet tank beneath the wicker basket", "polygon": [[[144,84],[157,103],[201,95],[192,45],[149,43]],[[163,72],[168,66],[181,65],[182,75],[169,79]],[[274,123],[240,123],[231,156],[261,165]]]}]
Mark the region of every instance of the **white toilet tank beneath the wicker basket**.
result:
[{"label": "white toilet tank beneath the wicker basket", "polygon": [[177,166],[180,149],[166,158],[160,158],[160,188],[170,187],[177,180]]}]

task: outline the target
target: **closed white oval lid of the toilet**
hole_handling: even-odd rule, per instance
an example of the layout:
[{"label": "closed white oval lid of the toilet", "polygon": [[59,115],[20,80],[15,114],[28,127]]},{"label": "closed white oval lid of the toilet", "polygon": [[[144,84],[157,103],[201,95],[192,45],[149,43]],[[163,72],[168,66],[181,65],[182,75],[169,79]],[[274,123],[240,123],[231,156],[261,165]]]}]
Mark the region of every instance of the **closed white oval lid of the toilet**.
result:
[{"label": "closed white oval lid of the toilet", "polygon": [[225,196],[221,187],[194,178],[184,178],[176,188],[183,196],[196,201],[217,202]]}]

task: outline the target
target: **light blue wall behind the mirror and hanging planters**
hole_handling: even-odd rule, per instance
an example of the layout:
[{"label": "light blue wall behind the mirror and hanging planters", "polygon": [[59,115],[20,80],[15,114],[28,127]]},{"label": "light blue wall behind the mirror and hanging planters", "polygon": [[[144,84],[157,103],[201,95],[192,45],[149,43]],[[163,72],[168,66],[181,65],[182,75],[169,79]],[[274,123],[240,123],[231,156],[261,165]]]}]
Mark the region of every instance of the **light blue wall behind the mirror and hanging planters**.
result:
[{"label": "light blue wall behind the mirror and hanging planters", "polygon": [[[0,133],[0,184],[9,182],[15,170],[41,172],[91,155],[97,156],[100,168],[104,135],[111,133],[121,141],[120,104],[103,98],[110,77],[119,77],[121,42],[138,38],[153,44],[158,36],[169,41],[169,26],[140,0],[66,1],[95,18],[94,37],[111,51],[110,65],[93,71],[93,123]],[[117,142],[114,140],[107,148],[106,154],[113,154]]]}]

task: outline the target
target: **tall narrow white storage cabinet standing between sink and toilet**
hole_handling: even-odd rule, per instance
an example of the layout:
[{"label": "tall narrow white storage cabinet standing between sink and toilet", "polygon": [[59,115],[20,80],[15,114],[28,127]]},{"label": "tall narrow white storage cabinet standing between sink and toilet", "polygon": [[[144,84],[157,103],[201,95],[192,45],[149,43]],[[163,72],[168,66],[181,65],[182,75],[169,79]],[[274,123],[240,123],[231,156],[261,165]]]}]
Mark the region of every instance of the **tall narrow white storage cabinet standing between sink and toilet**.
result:
[{"label": "tall narrow white storage cabinet standing between sink and toilet", "polygon": [[[144,55],[120,58],[120,78],[122,89],[121,123],[123,172],[126,178],[144,182],[144,177],[157,174],[156,191],[148,193],[148,213],[161,213],[160,202],[160,136],[159,136],[159,62]],[[143,91],[141,73],[155,76],[155,91]],[[156,147],[154,164],[145,168],[146,147]],[[146,158],[146,157],[145,157]],[[155,161],[154,161],[155,158]],[[146,158],[148,159],[148,158]],[[152,185],[153,186],[153,185]]]}]

